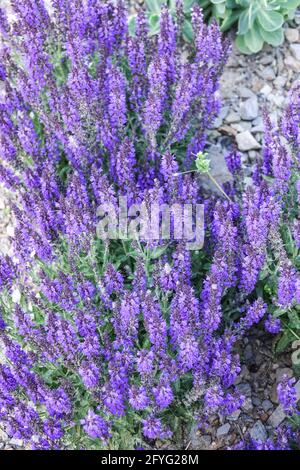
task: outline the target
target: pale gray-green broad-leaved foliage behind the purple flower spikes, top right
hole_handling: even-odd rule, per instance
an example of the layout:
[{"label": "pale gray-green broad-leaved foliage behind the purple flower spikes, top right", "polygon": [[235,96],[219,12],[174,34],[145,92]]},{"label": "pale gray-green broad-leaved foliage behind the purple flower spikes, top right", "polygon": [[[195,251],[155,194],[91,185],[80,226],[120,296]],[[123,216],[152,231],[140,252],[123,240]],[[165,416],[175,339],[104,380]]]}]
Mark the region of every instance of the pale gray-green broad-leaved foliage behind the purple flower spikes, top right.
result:
[{"label": "pale gray-green broad-leaved foliage behind the purple flower spikes, top right", "polygon": [[[165,3],[175,15],[176,0],[145,0],[151,34],[159,29],[160,9]],[[183,0],[183,35],[187,40],[192,36],[191,8],[195,4],[203,8],[208,20],[217,18],[222,31],[235,25],[238,48],[245,54],[252,54],[259,52],[265,42],[272,46],[282,44],[283,23],[294,17],[300,0]]]}]

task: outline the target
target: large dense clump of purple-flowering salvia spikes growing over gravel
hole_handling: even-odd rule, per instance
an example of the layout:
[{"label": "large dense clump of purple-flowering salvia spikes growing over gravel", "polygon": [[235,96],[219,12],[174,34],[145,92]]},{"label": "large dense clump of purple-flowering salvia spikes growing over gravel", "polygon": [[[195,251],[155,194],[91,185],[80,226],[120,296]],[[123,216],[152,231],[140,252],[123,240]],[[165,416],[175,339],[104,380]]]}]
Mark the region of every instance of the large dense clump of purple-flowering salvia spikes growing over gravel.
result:
[{"label": "large dense clump of purple-flowering salvia spikes growing over gravel", "polygon": [[[134,448],[193,418],[205,428],[243,402],[237,340],[264,317],[280,331],[273,314],[299,297],[297,91],[278,129],[266,118],[253,185],[232,153],[228,197],[208,195],[180,172],[219,109],[229,47],[216,24],[195,8],[183,54],[166,8],[150,38],[142,12],[129,35],[122,1],[12,4],[12,23],[0,10],[0,175],[16,223],[0,264],[1,424],[34,449]],[[97,207],[119,196],[204,204],[204,249],[100,240]]]}]

